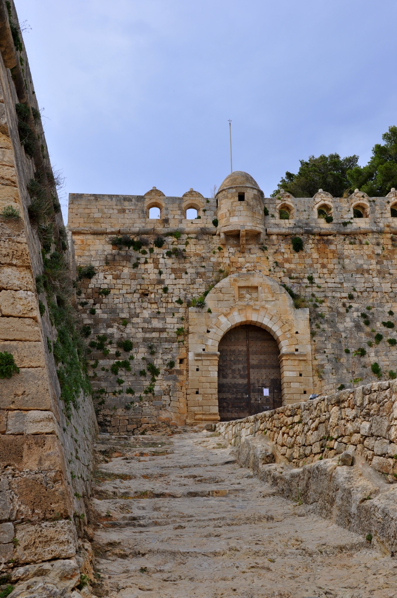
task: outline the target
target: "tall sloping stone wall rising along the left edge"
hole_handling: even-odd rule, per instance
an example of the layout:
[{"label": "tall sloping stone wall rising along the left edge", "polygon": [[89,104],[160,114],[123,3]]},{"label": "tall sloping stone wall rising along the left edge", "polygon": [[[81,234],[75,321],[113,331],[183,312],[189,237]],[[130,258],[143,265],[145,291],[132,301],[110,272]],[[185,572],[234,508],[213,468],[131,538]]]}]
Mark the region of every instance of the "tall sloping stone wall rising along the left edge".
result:
[{"label": "tall sloping stone wall rising along the left edge", "polygon": [[[11,14],[17,24],[13,2]],[[19,367],[19,373],[0,379],[0,565],[3,575],[16,565],[72,559],[65,567],[72,570],[74,587],[84,561],[74,559],[83,550],[78,536],[87,523],[96,419],[90,396],[81,393],[79,409],[72,407],[69,417],[60,398],[53,353],[58,332],[46,295],[36,288],[43,260],[27,190],[35,172],[51,164],[40,122],[29,121],[35,130],[32,157],[20,143],[16,103],[36,110],[38,103],[25,48],[14,48],[4,0],[0,50],[0,212],[12,206],[20,214],[0,216],[0,352],[11,353]],[[52,193],[56,203],[55,188]],[[62,231],[60,212],[51,218],[54,231]],[[53,251],[73,261],[73,249],[62,249],[60,237]]]}]

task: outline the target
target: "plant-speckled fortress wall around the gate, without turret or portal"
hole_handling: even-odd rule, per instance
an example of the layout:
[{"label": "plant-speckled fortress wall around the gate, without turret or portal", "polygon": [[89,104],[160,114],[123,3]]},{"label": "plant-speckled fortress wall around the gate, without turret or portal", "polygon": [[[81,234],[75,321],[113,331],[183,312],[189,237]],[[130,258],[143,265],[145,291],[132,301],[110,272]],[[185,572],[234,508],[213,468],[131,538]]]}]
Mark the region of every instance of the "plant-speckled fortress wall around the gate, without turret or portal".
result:
[{"label": "plant-speckled fortress wall around the gate, without turret or portal", "polygon": [[[91,280],[81,282],[79,297],[84,323],[91,328],[88,340],[96,340],[97,334],[107,334],[108,340],[112,340],[108,355],[95,349],[91,355],[93,361],[99,361],[90,372],[94,376],[93,388],[99,391],[95,403],[103,429],[124,434],[156,422],[191,421],[190,407],[197,414],[198,408],[203,411],[204,404],[213,413],[213,398],[206,402],[207,395],[201,393],[213,380],[206,380],[207,374],[193,380],[193,374],[198,367],[195,355],[201,347],[213,352],[203,367],[211,377],[216,374],[216,347],[211,334],[221,308],[215,301],[212,314],[207,313],[210,296],[204,309],[189,308],[186,301],[197,298],[219,280],[219,270],[229,276],[238,273],[267,276],[276,285],[285,284],[306,298],[312,376],[307,377],[305,385],[301,378],[291,379],[291,385],[298,386],[297,393],[332,393],[342,384],[349,388],[352,377],[361,379],[358,382],[372,383],[377,380],[371,371],[374,362],[380,366],[383,380],[389,379],[389,371],[397,371],[397,348],[387,342],[388,338],[397,338],[396,328],[381,324],[385,321],[396,324],[396,317],[387,313],[389,310],[397,313],[397,219],[390,216],[390,206],[397,201],[395,191],[384,198],[363,198],[362,194],[332,198],[325,193],[314,198],[295,199],[288,194],[282,194],[280,199],[265,198],[264,205],[269,211],[264,218],[265,236],[259,242],[257,237],[247,235],[244,248],[239,238],[232,236],[221,245],[218,228],[212,224],[216,217],[215,199],[207,200],[194,191],[188,192],[192,197],[196,194],[196,200],[210,210],[205,214],[199,210],[201,219],[188,222],[184,218],[185,196],[166,197],[158,190],[153,193],[155,196],[152,191],[145,196],[70,196],[69,227],[77,263],[93,264],[97,271]],[[160,205],[160,200],[161,219],[153,221],[147,217],[145,206],[149,202]],[[291,206],[292,218],[272,218],[286,202]],[[329,203],[334,215],[330,224],[317,218],[317,207],[324,202]],[[369,206],[368,218],[353,218],[352,209],[357,203]],[[166,236],[176,230],[181,232],[178,240]],[[145,237],[148,244],[142,249],[146,254],[112,245],[111,239],[120,234],[130,234],[135,239]],[[154,246],[158,234],[164,236],[163,248]],[[293,251],[294,235],[303,239],[303,251]],[[176,249],[182,257],[167,255],[167,251]],[[307,279],[310,275],[313,282]],[[163,292],[164,286],[167,292]],[[99,295],[105,287],[111,291],[107,297]],[[179,299],[182,304],[176,303]],[[257,307],[249,301],[246,306]],[[92,307],[95,314],[89,312]],[[297,314],[304,311],[295,310]],[[368,325],[361,313],[367,314]],[[181,328],[184,334],[177,336],[176,331]],[[188,333],[192,333],[191,339]],[[377,333],[383,335],[378,343]],[[128,358],[129,353],[116,346],[118,340],[126,338],[133,340],[135,359],[130,362],[131,371],[121,369],[117,375],[112,374],[112,364]],[[301,343],[298,339],[297,346]],[[190,346],[191,341],[194,347]],[[152,356],[149,344],[154,345]],[[352,376],[352,353],[359,347],[367,353],[362,358],[353,357]],[[120,357],[115,355],[117,350]],[[170,361],[175,361],[175,368],[167,368]],[[144,393],[150,383],[149,375],[139,374],[148,362],[160,370],[154,395]],[[295,365],[298,371],[299,363]],[[118,384],[118,378],[124,382]],[[132,388],[135,394],[126,393],[127,388]],[[193,396],[197,389],[198,396]],[[210,391],[213,389],[209,394]],[[193,417],[197,422],[196,414]],[[216,421],[215,416],[213,420]]]}]

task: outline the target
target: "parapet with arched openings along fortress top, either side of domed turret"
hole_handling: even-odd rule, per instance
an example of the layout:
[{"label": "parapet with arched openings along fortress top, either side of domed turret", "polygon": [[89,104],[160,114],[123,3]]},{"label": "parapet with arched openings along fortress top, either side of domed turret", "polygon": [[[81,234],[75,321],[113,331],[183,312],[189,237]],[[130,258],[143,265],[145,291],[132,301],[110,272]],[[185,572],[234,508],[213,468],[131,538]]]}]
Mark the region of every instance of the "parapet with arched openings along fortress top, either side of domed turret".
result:
[{"label": "parapet with arched openings along fortress top, either side of domed turret", "polygon": [[[160,218],[150,218],[149,210],[160,209]],[[355,191],[349,197],[332,197],[320,190],[314,197],[292,197],[280,193],[265,197],[263,216],[265,234],[397,234],[397,192],[386,197],[368,197]],[[197,210],[197,218],[187,218],[188,209]],[[331,216],[326,222],[319,210]],[[359,210],[362,217],[355,216]],[[392,216],[392,210],[396,215]],[[181,233],[219,234],[213,219],[219,217],[218,199],[188,191],[182,197],[166,197],[159,190],[145,195],[69,194],[68,227],[72,231],[97,234],[160,234],[178,228]],[[280,215],[282,216],[280,218]]]}]

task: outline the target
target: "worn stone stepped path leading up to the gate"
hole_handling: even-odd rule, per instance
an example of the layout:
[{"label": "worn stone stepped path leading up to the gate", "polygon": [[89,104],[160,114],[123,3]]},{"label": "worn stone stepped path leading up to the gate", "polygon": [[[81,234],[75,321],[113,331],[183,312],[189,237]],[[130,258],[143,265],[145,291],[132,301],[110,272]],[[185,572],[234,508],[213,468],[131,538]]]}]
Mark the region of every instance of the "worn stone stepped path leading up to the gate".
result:
[{"label": "worn stone stepped path leading up to the gate", "polygon": [[277,496],[222,437],[103,435],[96,449],[97,596],[397,596],[397,558]]}]

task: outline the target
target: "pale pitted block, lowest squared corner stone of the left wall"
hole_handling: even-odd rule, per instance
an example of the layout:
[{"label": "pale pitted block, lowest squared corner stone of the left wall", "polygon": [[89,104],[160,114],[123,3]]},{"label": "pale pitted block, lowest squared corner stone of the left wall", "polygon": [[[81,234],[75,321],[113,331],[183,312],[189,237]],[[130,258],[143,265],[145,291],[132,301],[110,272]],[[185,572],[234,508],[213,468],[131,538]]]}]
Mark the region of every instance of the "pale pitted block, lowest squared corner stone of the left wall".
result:
[{"label": "pale pitted block, lowest squared corner stone of the left wall", "polygon": [[16,526],[17,563],[70,559],[76,554],[77,536],[72,521],[45,521]]}]

